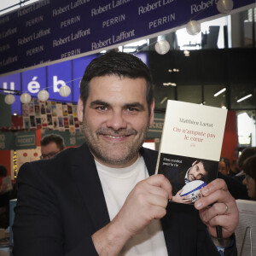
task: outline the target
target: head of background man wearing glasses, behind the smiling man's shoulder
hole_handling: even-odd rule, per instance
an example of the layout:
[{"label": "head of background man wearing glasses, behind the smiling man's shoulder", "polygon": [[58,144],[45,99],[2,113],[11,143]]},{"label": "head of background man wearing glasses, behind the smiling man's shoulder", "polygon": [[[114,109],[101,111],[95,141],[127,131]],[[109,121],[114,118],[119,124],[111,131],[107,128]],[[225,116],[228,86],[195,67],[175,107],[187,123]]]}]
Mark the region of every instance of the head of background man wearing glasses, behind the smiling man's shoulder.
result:
[{"label": "head of background man wearing glasses, behind the smiling man's shoulder", "polygon": [[44,136],[41,141],[41,159],[50,159],[58,154],[65,148],[63,139],[56,134],[50,134]]}]

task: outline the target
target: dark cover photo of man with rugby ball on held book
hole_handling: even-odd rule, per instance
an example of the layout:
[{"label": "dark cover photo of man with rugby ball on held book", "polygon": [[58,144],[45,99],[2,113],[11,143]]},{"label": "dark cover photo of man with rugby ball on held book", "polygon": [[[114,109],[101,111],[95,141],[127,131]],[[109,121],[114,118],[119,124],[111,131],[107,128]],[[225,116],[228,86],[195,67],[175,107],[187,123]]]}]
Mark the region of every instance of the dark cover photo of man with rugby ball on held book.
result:
[{"label": "dark cover photo of man with rugby ball on held book", "polygon": [[194,204],[201,197],[201,188],[217,177],[218,161],[161,153],[158,173],[171,182],[172,201]]}]

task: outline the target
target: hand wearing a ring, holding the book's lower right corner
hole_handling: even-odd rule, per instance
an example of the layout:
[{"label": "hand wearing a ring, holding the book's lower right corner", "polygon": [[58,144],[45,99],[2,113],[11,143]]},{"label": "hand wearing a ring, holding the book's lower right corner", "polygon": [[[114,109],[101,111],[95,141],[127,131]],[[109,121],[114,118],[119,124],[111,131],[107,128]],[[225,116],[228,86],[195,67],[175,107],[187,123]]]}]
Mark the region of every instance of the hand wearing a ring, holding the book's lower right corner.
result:
[{"label": "hand wearing a ring, holding the book's lower right corner", "polygon": [[[217,237],[216,226],[219,225],[224,239],[229,238],[236,230],[239,213],[226,183],[223,179],[215,179],[201,189],[201,194],[203,196],[195,202],[195,208],[199,210],[201,220],[207,225],[210,235]],[[218,243],[214,239],[213,241]]]}]

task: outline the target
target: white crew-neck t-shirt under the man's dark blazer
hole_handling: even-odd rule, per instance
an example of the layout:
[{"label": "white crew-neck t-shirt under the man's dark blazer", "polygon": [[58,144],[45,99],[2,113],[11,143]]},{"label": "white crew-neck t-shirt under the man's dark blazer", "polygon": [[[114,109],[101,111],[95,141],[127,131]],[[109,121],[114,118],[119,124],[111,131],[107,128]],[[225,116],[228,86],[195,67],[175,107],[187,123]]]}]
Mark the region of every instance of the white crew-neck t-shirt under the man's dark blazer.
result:
[{"label": "white crew-neck t-shirt under the man's dark blazer", "polygon": [[[133,165],[125,168],[110,168],[97,161],[96,167],[107,202],[109,218],[112,220],[125,203],[127,195],[134,186],[148,177],[148,170],[142,156]],[[160,220],[152,220],[142,232],[131,237],[119,253],[119,256],[136,255],[168,255]]]}]

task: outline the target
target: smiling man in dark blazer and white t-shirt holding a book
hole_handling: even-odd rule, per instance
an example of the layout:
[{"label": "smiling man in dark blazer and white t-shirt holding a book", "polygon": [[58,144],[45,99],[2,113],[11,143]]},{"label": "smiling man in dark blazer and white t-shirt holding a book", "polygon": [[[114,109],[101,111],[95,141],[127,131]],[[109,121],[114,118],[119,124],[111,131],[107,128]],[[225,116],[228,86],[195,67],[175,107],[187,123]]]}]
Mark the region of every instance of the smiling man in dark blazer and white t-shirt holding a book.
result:
[{"label": "smiling man in dark blazer and white t-shirt holding a book", "polygon": [[153,175],[158,154],[142,148],[154,119],[143,61],[114,51],[91,61],[78,116],[86,144],[20,168],[15,256],[219,255],[216,225],[222,246],[234,244],[238,211],[224,181],[203,190],[198,214],[168,204],[171,183]]}]

